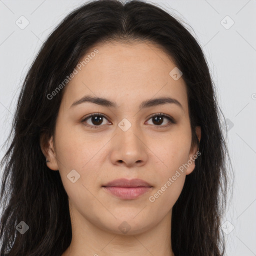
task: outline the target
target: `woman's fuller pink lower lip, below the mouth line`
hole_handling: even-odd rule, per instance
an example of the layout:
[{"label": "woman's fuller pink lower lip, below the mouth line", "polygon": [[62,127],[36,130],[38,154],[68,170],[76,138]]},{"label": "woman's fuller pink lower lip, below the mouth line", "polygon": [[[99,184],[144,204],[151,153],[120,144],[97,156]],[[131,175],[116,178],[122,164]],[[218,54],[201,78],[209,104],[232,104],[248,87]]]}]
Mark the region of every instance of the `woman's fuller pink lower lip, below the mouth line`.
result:
[{"label": "woman's fuller pink lower lip, below the mouth line", "polygon": [[104,187],[111,194],[122,198],[122,199],[134,199],[138,196],[146,193],[151,189],[149,186],[138,186],[138,187],[119,187],[119,186],[106,186]]}]

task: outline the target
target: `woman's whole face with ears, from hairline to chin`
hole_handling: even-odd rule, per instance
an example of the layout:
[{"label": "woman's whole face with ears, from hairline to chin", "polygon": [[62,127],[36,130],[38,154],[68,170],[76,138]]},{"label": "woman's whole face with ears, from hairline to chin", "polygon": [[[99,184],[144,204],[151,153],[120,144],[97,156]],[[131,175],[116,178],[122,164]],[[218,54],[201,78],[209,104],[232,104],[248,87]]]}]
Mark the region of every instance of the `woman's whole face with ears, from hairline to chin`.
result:
[{"label": "woman's whole face with ears, from hairline to chin", "polygon": [[[124,227],[136,234],[171,216],[194,168],[185,83],[169,74],[175,63],[150,43],[105,43],[87,54],[64,88],[55,134],[43,152],[47,166],[59,170],[74,215],[112,233]],[[145,103],[162,97],[174,100]],[[196,132],[200,139],[199,127]],[[104,187],[119,178],[149,185]]]}]

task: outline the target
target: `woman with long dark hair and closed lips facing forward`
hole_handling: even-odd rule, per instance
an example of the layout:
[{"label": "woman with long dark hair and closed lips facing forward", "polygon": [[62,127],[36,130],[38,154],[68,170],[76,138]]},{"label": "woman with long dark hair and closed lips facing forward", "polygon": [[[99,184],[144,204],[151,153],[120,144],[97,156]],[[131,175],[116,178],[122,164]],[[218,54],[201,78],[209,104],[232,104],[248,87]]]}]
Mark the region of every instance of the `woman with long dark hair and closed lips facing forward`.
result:
[{"label": "woman with long dark hair and closed lips facing forward", "polygon": [[18,98],[0,253],[223,255],[218,114],[202,49],[170,14],[137,0],[75,9]]}]

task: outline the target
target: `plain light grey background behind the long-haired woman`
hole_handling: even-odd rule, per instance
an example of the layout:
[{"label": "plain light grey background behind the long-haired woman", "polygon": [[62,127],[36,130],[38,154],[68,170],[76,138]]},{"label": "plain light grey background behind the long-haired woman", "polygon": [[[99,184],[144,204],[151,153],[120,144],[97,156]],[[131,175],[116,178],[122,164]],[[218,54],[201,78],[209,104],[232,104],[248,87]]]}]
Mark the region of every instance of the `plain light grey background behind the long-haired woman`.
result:
[{"label": "plain light grey background behind the long-haired woman", "polygon": [[[61,19],[83,2],[0,0],[0,146],[10,130],[24,75],[39,47]],[[256,255],[256,0],[151,2],[186,22],[203,47],[229,125],[225,136],[234,170],[233,197],[222,221],[226,255]],[[15,23],[21,23],[22,15],[29,22],[24,29]],[[5,149],[1,148],[0,158]]]}]

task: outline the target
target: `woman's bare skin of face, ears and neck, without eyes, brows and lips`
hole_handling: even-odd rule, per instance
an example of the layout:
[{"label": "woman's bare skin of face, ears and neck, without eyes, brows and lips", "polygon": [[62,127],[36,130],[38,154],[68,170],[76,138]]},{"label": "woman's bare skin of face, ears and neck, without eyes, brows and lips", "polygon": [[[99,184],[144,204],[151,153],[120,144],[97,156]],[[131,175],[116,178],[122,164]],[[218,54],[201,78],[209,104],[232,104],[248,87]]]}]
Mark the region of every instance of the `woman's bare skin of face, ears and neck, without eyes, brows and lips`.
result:
[{"label": "woman's bare skin of face, ears and neck, without eyes, brows and lips", "polygon": [[[174,80],[169,75],[175,63],[149,42],[108,42],[90,52],[95,48],[98,53],[64,88],[54,136],[41,143],[47,166],[59,170],[68,194],[72,241],[62,256],[173,256],[172,206],[194,161],[154,202],[148,198],[198,149],[191,144],[185,83],[182,76]],[[91,102],[70,107],[87,94],[114,101],[118,108]],[[143,100],[160,96],[175,98],[183,109],[174,103],[138,109]],[[166,117],[153,122],[149,116],[160,112],[176,123],[165,126]],[[91,117],[81,122],[91,113],[107,117],[98,129],[85,126],[95,125]],[[127,131],[118,126],[123,118],[131,123]],[[200,140],[199,126],[196,134]],[[72,169],[80,175],[74,183],[67,178]],[[121,177],[141,178],[153,187],[130,200],[101,187]],[[123,221],[130,226],[125,234],[118,228]]]}]

